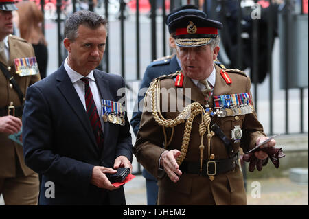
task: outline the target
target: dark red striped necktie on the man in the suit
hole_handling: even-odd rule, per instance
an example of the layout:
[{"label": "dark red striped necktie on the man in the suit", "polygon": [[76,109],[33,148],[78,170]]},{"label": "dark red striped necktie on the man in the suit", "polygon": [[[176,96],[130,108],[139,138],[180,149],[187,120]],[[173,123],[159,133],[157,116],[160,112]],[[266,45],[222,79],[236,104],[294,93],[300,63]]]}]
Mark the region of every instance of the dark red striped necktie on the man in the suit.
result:
[{"label": "dark red striped necktie on the man in the suit", "polygon": [[80,80],[84,82],[84,100],[86,102],[87,115],[89,117],[93,129],[93,134],[95,135],[95,140],[98,144],[98,148],[101,150],[104,143],[102,124],[97,111],[97,107],[95,106],[95,102],[93,100],[91,89],[89,87],[89,80],[88,78],[82,78]]}]

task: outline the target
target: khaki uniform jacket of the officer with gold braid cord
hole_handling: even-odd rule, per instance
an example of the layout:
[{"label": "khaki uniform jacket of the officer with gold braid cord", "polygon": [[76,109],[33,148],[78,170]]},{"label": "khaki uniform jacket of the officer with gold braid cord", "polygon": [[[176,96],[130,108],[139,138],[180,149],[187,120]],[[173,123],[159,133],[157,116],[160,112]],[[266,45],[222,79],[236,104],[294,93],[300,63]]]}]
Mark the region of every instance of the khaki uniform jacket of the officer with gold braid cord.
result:
[{"label": "khaki uniform jacket of the officer with gold braid cord", "polygon": [[[216,65],[215,65],[216,66]],[[214,87],[214,95],[227,95],[233,93],[249,93],[251,82],[250,79],[242,73],[228,72],[232,80],[231,84],[227,84],[220,75],[221,68],[216,66],[216,84]],[[174,78],[161,79],[161,91],[163,88],[174,89]],[[191,89],[191,94],[186,92],[186,88]],[[149,90],[148,90],[149,91]],[[179,95],[178,93],[182,94]],[[151,92],[150,92],[151,93]],[[196,87],[190,78],[184,77],[183,89],[178,89],[175,94],[171,93],[170,97],[162,97],[163,101],[168,102],[168,111],[161,112],[165,119],[174,119],[179,115],[179,111],[172,111],[170,103],[181,102],[185,106],[185,97],[190,98],[191,102],[199,102],[205,106],[205,97],[201,90]],[[212,98],[211,98],[212,99]],[[150,108],[150,95],[145,99],[145,106]],[[189,102],[189,104],[191,103]],[[211,108],[214,105],[211,101]],[[176,105],[178,106],[178,105]],[[218,124],[225,135],[231,139],[231,130],[234,126],[242,128],[242,140],[240,143],[233,143],[233,149],[238,151],[242,147],[244,152],[255,146],[258,137],[264,136],[263,128],[256,117],[255,113],[247,115],[238,115],[238,117],[211,117],[212,121]],[[201,137],[198,132],[201,123],[201,115],[197,115],[192,123],[192,131],[187,149],[187,155],[184,161],[198,162],[200,161]],[[167,150],[177,149],[181,151],[183,140],[183,132],[185,123],[179,124],[174,128],[174,137]],[[171,135],[171,128],[165,128],[168,140]],[[207,152],[207,132],[204,137],[205,150],[203,159],[208,159]],[[233,140],[232,140],[233,141]],[[239,165],[235,170],[231,170],[225,174],[218,174],[214,181],[210,181],[208,176],[199,176],[198,174],[183,174],[179,177],[177,183],[173,183],[167,174],[161,177],[159,170],[159,158],[165,150],[163,148],[163,130],[162,127],[155,122],[152,112],[144,112],[141,117],[141,126],[137,134],[137,141],[134,147],[134,154],[137,161],[146,168],[151,174],[159,178],[159,205],[247,205],[247,198],[244,190],[244,181]],[[222,141],[214,135],[211,139],[211,154],[215,155],[215,159],[228,159],[227,150]]]}]

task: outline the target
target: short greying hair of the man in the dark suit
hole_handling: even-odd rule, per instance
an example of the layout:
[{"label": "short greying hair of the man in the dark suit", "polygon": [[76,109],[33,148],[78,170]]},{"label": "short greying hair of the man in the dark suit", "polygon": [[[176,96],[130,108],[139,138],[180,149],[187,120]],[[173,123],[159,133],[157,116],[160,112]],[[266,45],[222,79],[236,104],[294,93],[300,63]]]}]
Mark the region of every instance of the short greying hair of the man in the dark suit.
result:
[{"label": "short greying hair of the man in the dark suit", "polygon": [[104,25],[107,31],[107,22],[99,14],[91,11],[78,11],[65,21],[65,38],[68,38],[71,41],[75,41],[78,38],[78,27],[80,25],[85,25],[91,29],[97,29],[101,25]]}]

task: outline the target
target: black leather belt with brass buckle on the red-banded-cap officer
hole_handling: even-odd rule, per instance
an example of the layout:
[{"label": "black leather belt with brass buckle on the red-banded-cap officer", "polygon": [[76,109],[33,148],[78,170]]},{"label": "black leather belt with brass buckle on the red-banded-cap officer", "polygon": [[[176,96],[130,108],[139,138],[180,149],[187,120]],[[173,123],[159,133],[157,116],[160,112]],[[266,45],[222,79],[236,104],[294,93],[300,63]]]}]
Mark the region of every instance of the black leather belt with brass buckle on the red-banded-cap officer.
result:
[{"label": "black leather belt with brass buckle on the red-banded-cap officer", "polygon": [[202,172],[200,172],[200,163],[198,162],[187,162],[183,161],[179,169],[181,172],[186,172],[188,174],[200,174],[203,176],[216,176],[218,174],[223,174],[229,172],[236,167],[238,160],[238,153],[229,159],[223,160],[204,160],[202,163]]}]

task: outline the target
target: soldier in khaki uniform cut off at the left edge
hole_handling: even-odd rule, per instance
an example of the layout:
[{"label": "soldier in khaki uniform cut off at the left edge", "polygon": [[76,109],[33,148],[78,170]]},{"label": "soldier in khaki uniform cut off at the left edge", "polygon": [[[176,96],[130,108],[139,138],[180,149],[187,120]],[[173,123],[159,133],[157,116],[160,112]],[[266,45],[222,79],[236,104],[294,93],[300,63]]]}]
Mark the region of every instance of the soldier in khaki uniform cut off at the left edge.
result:
[{"label": "soldier in khaki uniform cut off at the left edge", "polygon": [[41,79],[32,45],[11,35],[13,10],[13,0],[0,0],[0,194],[5,205],[36,205],[38,174],[25,165],[21,144],[8,138],[21,130],[27,87]]}]

